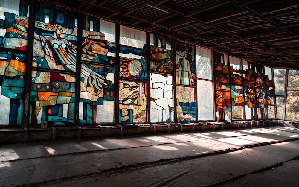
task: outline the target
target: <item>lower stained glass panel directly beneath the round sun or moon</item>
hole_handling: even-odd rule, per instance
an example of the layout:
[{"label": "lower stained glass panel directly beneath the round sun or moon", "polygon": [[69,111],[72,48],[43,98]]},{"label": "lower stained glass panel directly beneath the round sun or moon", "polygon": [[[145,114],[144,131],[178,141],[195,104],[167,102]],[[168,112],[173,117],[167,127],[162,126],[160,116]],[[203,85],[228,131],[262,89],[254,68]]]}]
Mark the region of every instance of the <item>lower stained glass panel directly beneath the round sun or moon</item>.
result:
[{"label": "lower stained glass panel directly beneath the round sun or moon", "polygon": [[119,123],[147,122],[147,83],[119,80]]}]

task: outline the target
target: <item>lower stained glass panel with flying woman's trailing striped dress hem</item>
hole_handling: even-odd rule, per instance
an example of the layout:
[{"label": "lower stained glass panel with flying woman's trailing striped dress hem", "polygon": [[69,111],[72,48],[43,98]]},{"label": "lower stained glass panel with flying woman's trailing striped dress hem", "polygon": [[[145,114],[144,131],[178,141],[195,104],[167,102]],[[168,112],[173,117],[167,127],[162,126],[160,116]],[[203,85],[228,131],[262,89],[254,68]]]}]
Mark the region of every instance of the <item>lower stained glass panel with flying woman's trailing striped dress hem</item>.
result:
[{"label": "lower stained glass panel with flying woman's trailing striped dress hem", "polygon": [[82,63],[81,71],[86,69],[91,73],[81,77],[80,124],[114,122],[115,68]]}]

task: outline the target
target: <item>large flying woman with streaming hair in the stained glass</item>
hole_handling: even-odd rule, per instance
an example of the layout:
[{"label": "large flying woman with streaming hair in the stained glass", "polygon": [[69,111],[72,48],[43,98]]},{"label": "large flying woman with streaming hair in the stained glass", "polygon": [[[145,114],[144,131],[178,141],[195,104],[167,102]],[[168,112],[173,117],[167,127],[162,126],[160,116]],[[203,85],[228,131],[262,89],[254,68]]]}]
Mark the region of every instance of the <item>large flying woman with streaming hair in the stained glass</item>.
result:
[{"label": "large flying woman with streaming hair in the stained glass", "polygon": [[[36,25],[39,29],[44,31],[51,31],[52,34],[37,34],[34,32],[34,38],[37,41],[41,42],[42,50],[45,53],[45,59],[48,63],[50,69],[65,70],[76,72],[76,61],[77,61],[77,48],[72,41],[69,41],[65,38],[62,38],[63,27],[60,24],[50,24],[42,21],[36,21]],[[16,24],[22,25],[25,28],[27,23],[24,20],[16,20]],[[77,27],[74,28],[72,34],[67,34],[71,36],[77,35]],[[65,74],[67,75],[67,74]],[[101,89],[103,88],[104,83],[106,85],[111,85],[109,80],[106,80],[105,77],[98,74],[97,72],[92,71],[88,66],[82,64],[81,66],[81,77],[84,77],[84,84],[87,82],[92,83],[90,86],[90,92],[93,95],[100,94]],[[66,80],[70,76],[65,77]]]}]

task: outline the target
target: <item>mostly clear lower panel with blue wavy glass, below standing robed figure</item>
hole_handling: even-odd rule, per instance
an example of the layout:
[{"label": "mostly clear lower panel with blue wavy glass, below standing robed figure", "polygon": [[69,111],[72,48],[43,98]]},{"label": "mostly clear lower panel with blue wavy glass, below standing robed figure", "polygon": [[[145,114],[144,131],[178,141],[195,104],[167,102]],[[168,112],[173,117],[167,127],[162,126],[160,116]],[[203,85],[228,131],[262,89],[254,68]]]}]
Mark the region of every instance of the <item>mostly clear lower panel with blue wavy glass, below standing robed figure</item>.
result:
[{"label": "mostly clear lower panel with blue wavy glass, below standing robed figure", "polygon": [[196,121],[195,88],[176,86],[176,103],[178,121]]}]

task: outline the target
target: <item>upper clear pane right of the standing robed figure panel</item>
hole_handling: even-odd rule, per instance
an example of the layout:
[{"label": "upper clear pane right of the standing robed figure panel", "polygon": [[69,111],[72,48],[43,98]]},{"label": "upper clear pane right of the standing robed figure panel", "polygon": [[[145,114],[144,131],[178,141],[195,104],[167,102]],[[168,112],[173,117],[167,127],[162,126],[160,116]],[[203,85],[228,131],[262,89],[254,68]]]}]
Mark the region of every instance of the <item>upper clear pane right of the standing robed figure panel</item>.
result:
[{"label": "upper clear pane right of the standing robed figure panel", "polygon": [[211,51],[196,47],[197,78],[212,80]]}]

